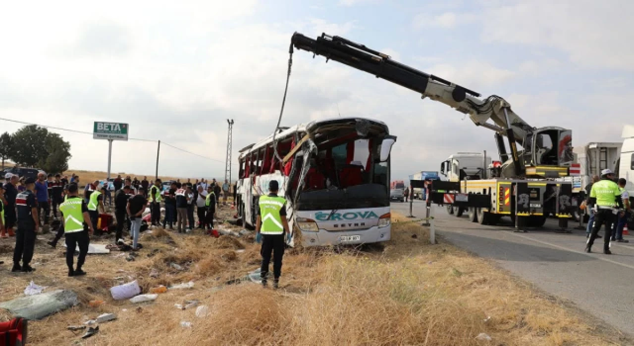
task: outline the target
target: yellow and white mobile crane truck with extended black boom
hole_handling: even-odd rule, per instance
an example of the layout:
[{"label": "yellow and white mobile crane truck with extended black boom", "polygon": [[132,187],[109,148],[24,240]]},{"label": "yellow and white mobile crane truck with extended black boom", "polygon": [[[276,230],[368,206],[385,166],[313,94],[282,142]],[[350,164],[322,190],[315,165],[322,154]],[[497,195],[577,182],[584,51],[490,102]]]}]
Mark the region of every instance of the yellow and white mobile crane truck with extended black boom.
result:
[{"label": "yellow and white mobile crane truck with extended black boom", "polygon": [[[491,179],[462,182],[434,181],[431,199],[454,211],[469,211],[473,222],[493,225],[500,216],[511,216],[517,226],[541,226],[549,215],[567,226],[574,207],[572,184],[554,179],[569,175],[574,161],[572,131],[561,127],[531,127],[500,96],[480,99],[473,90],[394,61],[387,54],[339,36],[321,34],[316,39],[295,32],[293,49],[324,56],[418,92],[422,99],[456,109],[477,126],[495,133],[501,166],[491,168]],[[289,59],[289,64],[291,63]],[[289,65],[290,66],[290,65]],[[489,122],[491,120],[491,122]],[[507,137],[508,151],[503,137]],[[522,146],[520,151],[517,145]]]}]

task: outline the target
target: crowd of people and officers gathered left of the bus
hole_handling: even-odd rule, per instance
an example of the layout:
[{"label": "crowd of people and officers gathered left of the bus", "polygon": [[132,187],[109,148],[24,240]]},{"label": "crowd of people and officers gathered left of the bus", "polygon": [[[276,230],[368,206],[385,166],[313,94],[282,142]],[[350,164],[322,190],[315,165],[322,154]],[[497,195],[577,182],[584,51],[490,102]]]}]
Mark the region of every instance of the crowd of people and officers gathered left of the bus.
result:
[{"label": "crowd of people and officers gathered left of the bus", "polygon": [[[48,244],[55,248],[65,236],[67,245],[68,276],[86,275],[82,270],[89,245],[89,235],[108,229],[108,222],[101,225],[103,214],[108,215],[106,204],[113,206],[116,219],[115,244],[124,244],[124,228],[129,230],[131,249],[139,250],[139,233],[146,206],[150,207],[153,226],[164,228],[174,225],[179,233],[198,228],[210,232],[214,225],[216,208],[226,205],[231,185],[207,182],[205,179],[181,183],[170,182],[164,190],[162,181],[139,181],[127,176],[117,176],[112,182],[94,181],[79,190],[79,176],[46,175],[40,172],[37,179],[20,178],[8,173],[0,183],[0,237],[15,237],[12,271],[30,272],[35,249],[36,234],[43,227],[56,230],[55,238]],[[235,185],[233,185],[235,195]],[[114,195],[114,198],[112,198]],[[161,222],[161,206],[165,216]],[[198,216],[195,224],[194,214]],[[61,217],[60,217],[61,216]],[[107,219],[107,218],[106,218]],[[74,268],[74,253],[79,247],[79,258]]]}]

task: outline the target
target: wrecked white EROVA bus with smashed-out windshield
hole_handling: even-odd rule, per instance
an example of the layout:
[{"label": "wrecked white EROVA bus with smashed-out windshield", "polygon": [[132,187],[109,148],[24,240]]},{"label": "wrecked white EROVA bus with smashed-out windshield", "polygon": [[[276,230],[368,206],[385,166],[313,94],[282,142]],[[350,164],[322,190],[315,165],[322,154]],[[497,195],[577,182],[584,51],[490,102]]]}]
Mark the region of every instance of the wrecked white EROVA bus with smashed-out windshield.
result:
[{"label": "wrecked white EROVA bus with smashed-out windshield", "polygon": [[287,199],[290,246],[385,242],[391,237],[390,158],[385,123],[337,118],[280,128],[238,156],[238,215],[254,227],[271,180]]}]

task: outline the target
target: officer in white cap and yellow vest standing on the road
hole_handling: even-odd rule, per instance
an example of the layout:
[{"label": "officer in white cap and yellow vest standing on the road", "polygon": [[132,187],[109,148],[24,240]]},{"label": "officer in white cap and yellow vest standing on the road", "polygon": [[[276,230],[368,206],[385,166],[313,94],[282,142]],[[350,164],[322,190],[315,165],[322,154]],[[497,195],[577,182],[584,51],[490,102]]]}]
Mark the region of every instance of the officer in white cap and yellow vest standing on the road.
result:
[{"label": "officer in white cap and yellow vest standing on the road", "polygon": [[612,179],[614,179],[614,173],[612,173],[611,170],[601,171],[601,180],[592,185],[590,196],[588,197],[588,201],[586,201],[588,205],[595,204],[594,227],[586,244],[586,252],[592,252],[592,244],[594,244],[597,238],[598,230],[601,228],[601,225],[605,223],[603,253],[606,255],[612,254],[610,251],[611,225],[618,213],[616,207],[619,206],[623,208],[621,190],[619,189],[619,185],[616,185]]}]

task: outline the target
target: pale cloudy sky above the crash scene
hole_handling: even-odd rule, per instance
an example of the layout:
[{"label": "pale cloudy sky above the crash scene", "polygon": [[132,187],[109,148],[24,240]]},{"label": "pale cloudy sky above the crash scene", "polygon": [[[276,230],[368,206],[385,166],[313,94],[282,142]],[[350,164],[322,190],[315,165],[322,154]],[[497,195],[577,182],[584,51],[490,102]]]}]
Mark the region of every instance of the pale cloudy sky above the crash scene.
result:
[{"label": "pale cloudy sky above the crash scene", "polygon": [[[275,127],[293,32],[340,35],[482,96],[573,144],[621,141],[633,96],[631,1],[225,1],[10,4],[0,14],[3,118],[89,130],[130,123],[162,149],[160,173],[224,174],[236,149]],[[385,121],[399,139],[392,175],[436,170],[456,151],[495,153],[461,113],[360,71],[296,51],[284,125],[337,116]],[[0,121],[0,131],[18,125]],[[105,170],[107,144],[61,132],[72,168]],[[116,143],[113,171],[153,172],[153,144]],[[234,155],[235,157],[235,155]]]}]

